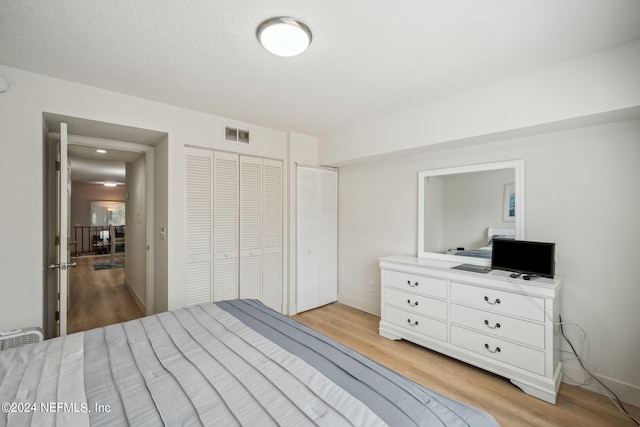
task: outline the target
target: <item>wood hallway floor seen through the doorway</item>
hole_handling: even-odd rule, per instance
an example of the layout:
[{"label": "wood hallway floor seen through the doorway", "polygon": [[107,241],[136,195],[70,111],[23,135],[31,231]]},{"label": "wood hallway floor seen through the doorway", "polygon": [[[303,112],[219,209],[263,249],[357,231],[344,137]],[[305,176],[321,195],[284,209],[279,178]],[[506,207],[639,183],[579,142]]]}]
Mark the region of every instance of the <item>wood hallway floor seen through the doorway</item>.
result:
[{"label": "wood hallway floor seen through the doorway", "polygon": [[86,331],[143,316],[124,279],[124,268],[94,270],[93,263],[104,257],[79,257],[69,269],[67,332]]}]

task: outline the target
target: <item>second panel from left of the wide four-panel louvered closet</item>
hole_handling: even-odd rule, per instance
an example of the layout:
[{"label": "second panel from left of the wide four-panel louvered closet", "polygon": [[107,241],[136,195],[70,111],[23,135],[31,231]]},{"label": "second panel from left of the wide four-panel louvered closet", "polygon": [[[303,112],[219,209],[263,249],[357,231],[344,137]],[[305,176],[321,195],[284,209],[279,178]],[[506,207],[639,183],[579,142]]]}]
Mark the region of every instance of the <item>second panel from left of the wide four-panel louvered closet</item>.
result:
[{"label": "second panel from left of the wide four-panel louvered closet", "polygon": [[238,298],[239,156],[213,153],[213,300]]}]

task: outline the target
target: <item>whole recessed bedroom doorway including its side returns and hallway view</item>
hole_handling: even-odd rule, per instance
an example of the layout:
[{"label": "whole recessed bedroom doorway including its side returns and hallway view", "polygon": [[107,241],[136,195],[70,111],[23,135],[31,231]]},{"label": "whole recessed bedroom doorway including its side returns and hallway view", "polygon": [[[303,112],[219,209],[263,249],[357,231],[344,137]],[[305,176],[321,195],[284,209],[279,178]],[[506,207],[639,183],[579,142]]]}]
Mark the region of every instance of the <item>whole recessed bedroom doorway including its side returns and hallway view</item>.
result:
[{"label": "whole recessed bedroom doorway including its side returns and hallway view", "polygon": [[[70,308],[66,313],[56,313],[58,294],[65,292],[60,292],[62,285],[58,292],[52,289],[53,275],[45,271],[43,317],[48,337],[155,311],[154,146],[168,141],[162,132],[44,113],[45,145],[60,139],[60,123],[67,123],[71,199],[77,199],[72,200],[67,218],[69,252],[77,266],[69,270],[72,282],[65,290],[71,298],[66,300]],[[50,153],[47,147],[44,151]],[[46,181],[55,175],[51,163],[51,158],[45,158],[45,194],[51,187]],[[52,235],[55,201],[50,194],[45,199],[44,250],[51,254],[56,242]],[[106,268],[98,268],[105,264]],[[65,317],[63,329],[68,325],[69,330],[58,330],[63,324],[60,318],[66,315],[80,318]]]}]

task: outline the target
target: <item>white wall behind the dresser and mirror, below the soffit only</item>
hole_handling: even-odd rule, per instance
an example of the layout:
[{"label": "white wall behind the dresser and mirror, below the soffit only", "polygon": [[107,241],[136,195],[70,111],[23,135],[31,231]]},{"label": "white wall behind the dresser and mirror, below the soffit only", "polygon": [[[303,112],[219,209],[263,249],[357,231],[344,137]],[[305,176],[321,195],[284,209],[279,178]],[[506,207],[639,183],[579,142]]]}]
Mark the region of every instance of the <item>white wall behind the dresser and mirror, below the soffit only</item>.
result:
[{"label": "white wall behind the dresser and mirror, below the soffit only", "polygon": [[419,170],[522,158],[526,236],[557,244],[561,313],[589,335],[598,373],[637,405],[638,141],[636,119],[340,168],[339,300],[380,313],[378,257],[416,254]]}]

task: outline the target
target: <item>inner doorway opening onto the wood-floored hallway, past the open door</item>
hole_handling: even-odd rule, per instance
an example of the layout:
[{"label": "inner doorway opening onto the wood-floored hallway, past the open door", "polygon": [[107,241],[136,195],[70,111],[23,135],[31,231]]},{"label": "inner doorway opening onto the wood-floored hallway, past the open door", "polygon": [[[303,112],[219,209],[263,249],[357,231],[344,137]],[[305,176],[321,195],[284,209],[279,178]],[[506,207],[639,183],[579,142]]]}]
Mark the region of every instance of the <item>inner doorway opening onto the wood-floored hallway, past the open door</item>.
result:
[{"label": "inner doorway opening onto the wood-floored hallway, past the open door", "polygon": [[68,270],[67,333],[136,319],[145,311],[145,206],[139,194],[128,195],[132,188],[146,189],[146,156],[105,148],[97,139],[81,142],[74,144],[72,135],[67,147],[75,265]]}]

